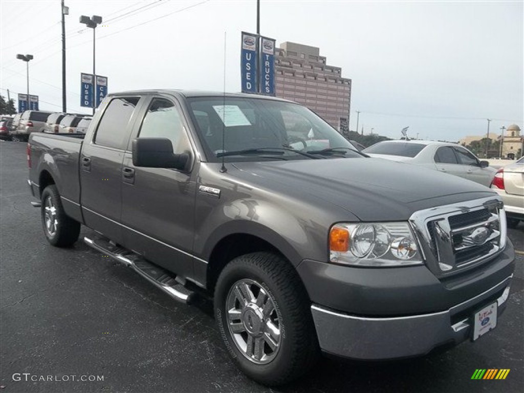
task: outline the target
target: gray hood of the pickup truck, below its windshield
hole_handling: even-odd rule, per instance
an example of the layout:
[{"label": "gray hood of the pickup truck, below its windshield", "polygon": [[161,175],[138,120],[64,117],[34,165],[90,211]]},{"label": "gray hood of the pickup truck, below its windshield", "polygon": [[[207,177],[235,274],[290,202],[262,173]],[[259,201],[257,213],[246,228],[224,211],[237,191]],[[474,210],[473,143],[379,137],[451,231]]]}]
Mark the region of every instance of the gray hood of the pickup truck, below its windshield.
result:
[{"label": "gray hood of the pickup truck, below its windshield", "polygon": [[237,162],[234,166],[243,181],[284,194],[310,195],[363,221],[406,220],[420,209],[495,195],[470,180],[376,158]]}]

